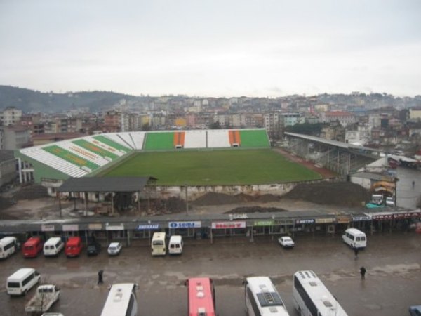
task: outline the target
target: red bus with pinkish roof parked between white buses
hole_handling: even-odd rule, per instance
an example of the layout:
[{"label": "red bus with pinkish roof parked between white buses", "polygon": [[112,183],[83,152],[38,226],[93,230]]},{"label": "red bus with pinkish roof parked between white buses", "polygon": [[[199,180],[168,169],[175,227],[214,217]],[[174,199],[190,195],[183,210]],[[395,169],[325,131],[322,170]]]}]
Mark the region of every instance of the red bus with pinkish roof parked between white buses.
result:
[{"label": "red bus with pinkish roof parked between white buses", "polygon": [[189,316],[215,316],[215,287],[209,277],[192,277],[185,282]]}]

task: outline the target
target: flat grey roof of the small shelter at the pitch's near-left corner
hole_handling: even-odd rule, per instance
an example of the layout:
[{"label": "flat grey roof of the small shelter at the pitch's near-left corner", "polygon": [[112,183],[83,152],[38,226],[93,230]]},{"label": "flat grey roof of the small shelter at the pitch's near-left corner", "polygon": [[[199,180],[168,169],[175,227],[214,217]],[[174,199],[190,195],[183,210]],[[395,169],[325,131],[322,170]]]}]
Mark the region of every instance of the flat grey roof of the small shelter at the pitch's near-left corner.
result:
[{"label": "flat grey roof of the small shelter at the pitch's near-left corner", "polygon": [[138,192],[153,177],[92,177],[69,178],[65,180],[58,192]]}]

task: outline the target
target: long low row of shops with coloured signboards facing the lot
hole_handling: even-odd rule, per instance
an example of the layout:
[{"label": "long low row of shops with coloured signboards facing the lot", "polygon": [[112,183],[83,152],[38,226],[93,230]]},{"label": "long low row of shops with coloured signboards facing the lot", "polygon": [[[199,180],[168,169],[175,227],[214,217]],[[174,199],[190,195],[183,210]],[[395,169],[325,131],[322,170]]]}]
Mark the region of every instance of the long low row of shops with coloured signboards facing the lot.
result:
[{"label": "long low row of shops with coloured signboards facing the lot", "polygon": [[[300,212],[297,212],[300,213]],[[81,218],[79,220],[2,221],[1,235],[17,235],[22,241],[31,235],[45,238],[61,236],[67,239],[79,235],[83,239],[95,236],[103,241],[151,239],[154,232],[168,236],[182,235],[192,239],[243,236],[253,241],[262,235],[337,235],[354,227],[368,234],[415,230],[421,233],[421,210],[388,211],[341,215],[308,215],[288,217],[290,213],[221,214],[215,218],[180,216],[177,220],[163,218]],[[265,217],[263,217],[265,216]]]}]

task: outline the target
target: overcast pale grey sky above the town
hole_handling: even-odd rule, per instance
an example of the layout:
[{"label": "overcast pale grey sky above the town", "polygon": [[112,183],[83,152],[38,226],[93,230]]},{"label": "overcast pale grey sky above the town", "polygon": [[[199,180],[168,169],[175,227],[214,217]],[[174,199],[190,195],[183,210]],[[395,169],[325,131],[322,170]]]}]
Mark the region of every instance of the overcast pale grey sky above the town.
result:
[{"label": "overcast pale grey sky above the town", "polygon": [[0,0],[0,84],[421,94],[420,0]]}]

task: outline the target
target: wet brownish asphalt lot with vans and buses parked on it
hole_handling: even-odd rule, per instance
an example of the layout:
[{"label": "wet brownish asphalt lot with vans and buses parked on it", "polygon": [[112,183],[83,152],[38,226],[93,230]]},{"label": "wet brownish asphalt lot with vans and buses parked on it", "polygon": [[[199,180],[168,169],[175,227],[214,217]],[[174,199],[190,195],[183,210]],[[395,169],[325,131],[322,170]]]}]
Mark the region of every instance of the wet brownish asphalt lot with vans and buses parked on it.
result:
[{"label": "wet brownish asphalt lot with vans and buses parked on it", "polygon": [[[71,315],[100,315],[107,286],[114,282],[137,282],[138,315],[187,315],[187,277],[209,276],[215,280],[217,310],[223,315],[245,315],[241,282],[246,276],[272,277],[290,315],[298,315],[292,303],[292,275],[314,270],[347,311],[348,315],[408,315],[408,306],[421,304],[421,235],[414,232],[368,236],[368,248],[358,260],[340,236],[295,237],[296,247],[281,249],[276,239],[243,237],[185,241],[182,256],[152,258],[147,241],[123,248],[120,256],[25,259],[15,254],[0,261],[0,315],[25,315],[24,305],[34,294],[10,298],[5,284],[18,268],[33,267],[43,282],[62,288],[52,311]],[[105,251],[104,251],[105,250]],[[361,281],[359,268],[368,272]],[[98,287],[97,272],[104,269]]]}]

